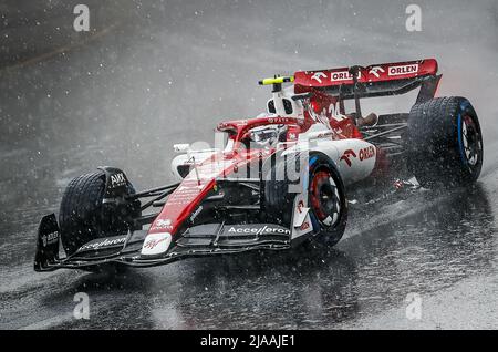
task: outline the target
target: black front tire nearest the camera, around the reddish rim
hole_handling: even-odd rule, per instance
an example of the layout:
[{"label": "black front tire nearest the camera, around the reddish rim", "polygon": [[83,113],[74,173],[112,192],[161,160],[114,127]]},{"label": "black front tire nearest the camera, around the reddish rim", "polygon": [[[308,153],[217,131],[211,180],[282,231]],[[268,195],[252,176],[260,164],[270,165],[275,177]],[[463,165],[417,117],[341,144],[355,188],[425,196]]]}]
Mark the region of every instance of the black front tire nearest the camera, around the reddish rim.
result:
[{"label": "black front tire nearest the camera, around the reddish rim", "polygon": [[[347,222],[347,200],[344,184],[334,163],[322,153],[310,153],[308,166],[308,203],[311,208],[310,215],[313,227],[320,228],[320,234],[314,236],[313,240],[318,240],[328,246],[334,246],[342,238]],[[289,167],[294,167],[295,172],[300,170],[300,154],[280,158],[276,165],[271,167],[273,176],[267,176],[264,185],[266,210],[270,216],[273,216],[284,225],[290,225],[291,222],[292,207],[295,198],[295,194],[289,193],[289,185],[295,184],[295,182],[289,180],[287,177]],[[330,176],[330,179],[321,179],[320,185],[314,185],[313,182],[318,175],[321,175],[323,178],[323,173],[326,173],[326,175]],[[286,177],[283,180],[276,179],[274,175],[286,175]],[[291,173],[290,175],[293,174]],[[319,187],[320,189],[312,189],[313,186]],[[328,199],[333,198],[331,200],[334,201],[332,207],[320,207],[320,204],[317,205],[317,201],[313,201],[315,200],[313,199],[313,195],[317,195],[322,190],[325,191],[325,189],[332,190],[332,193],[329,191],[326,195]],[[329,218],[332,220],[329,221]]]}]

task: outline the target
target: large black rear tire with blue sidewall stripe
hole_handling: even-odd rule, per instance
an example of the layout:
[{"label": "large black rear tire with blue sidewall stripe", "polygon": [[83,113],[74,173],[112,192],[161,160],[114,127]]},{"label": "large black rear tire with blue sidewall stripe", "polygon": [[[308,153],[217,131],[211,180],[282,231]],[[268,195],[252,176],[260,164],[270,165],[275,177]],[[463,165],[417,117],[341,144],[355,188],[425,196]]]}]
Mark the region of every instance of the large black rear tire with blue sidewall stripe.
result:
[{"label": "large black rear tire with blue sidewall stripe", "polygon": [[483,167],[479,120],[465,97],[438,97],[412,107],[406,134],[408,170],[425,188],[475,183]]}]

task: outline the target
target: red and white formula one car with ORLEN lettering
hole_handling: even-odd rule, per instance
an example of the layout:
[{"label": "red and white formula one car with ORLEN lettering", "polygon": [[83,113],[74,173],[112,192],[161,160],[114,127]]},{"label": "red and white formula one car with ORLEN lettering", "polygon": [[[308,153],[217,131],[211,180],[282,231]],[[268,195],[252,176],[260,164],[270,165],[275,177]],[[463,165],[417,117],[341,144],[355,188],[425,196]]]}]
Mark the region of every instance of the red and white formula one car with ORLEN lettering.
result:
[{"label": "red and white formula one car with ORLEN lettering", "polygon": [[[135,191],[113,167],[73,179],[59,220],[41,220],[34,269],[151,267],[303,241],[333,246],[346,226],[346,187],[397,169],[425,188],[474,183],[484,153],[479,121],[468,100],[435,97],[440,77],[429,59],[262,80],[272,86],[267,112],[220,123],[222,147],[175,145],[178,183]],[[415,89],[409,113],[362,115],[361,99]]]}]

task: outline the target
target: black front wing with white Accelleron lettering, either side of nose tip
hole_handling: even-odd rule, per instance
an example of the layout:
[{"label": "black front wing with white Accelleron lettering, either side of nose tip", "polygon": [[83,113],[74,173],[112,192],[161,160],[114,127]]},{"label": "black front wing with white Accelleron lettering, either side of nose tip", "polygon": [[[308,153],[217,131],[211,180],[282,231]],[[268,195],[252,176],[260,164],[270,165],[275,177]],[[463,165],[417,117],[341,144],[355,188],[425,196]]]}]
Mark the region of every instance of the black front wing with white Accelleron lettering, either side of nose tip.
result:
[{"label": "black front wing with white Accelleron lettering, either side of nose tip", "polygon": [[291,247],[291,231],[273,224],[207,224],[190,227],[160,256],[141,253],[146,230],[104,237],[83,245],[66,257],[61,246],[55,216],[45,216],[39,227],[35,271],[90,269],[106,263],[154,267],[179,259],[237,253],[257,249],[281,250]]}]

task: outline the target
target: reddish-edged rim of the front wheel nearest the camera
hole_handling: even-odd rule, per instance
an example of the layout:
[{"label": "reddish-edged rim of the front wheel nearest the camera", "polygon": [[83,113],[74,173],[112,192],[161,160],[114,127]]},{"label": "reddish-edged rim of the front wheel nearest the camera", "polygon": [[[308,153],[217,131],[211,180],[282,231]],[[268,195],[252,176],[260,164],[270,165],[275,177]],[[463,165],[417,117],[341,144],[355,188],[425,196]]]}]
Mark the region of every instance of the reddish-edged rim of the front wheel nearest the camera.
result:
[{"label": "reddish-edged rim of the front wheel nearest the camera", "polygon": [[314,174],[310,185],[310,200],[318,220],[325,227],[338,224],[341,197],[332,175],[326,170]]}]

